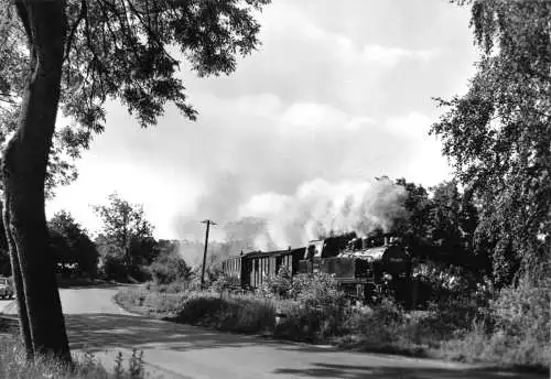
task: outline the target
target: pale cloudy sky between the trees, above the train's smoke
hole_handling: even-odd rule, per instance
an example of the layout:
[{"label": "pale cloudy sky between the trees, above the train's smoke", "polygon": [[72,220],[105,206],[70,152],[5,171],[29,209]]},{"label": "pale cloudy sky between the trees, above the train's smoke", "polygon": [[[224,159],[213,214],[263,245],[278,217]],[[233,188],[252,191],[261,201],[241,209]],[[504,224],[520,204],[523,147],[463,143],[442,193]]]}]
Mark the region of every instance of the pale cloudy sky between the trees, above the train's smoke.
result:
[{"label": "pale cloudy sky between the trees, above the train's smoke", "polygon": [[[143,204],[156,238],[199,239],[201,220],[284,213],[274,199],[305,187],[450,178],[428,131],[442,112],[432,98],[464,94],[474,73],[468,9],[445,0],[335,4],[273,0],[258,14],[261,46],[229,76],[199,78],[182,64],[195,122],[169,106],[156,127],[141,129],[108,104],[106,131],[47,216],[66,209],[97,232],[91,205],[117,192]],[[216,227],[213,236],[223,238]]]}]

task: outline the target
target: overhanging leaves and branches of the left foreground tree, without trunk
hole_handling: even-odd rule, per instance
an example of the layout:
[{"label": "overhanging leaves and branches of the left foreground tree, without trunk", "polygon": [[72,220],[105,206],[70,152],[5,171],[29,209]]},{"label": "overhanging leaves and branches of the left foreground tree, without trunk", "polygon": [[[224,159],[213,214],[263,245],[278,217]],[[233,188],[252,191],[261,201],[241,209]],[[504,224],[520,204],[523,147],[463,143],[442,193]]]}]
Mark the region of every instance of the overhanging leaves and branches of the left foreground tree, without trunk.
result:
[{"label": "overhanging leaves and branches of the left foreground tree, without trunk", "polygon": [[[61,104],[74,124],[60,130],[60,137],[71,148],[87,148],[91,133],[104,129],[109,98],[123,102],[143,127],[155,123],[165,102],[195,119],[173,55],[183,54],[199,76],[231,73],[236,55],[258,46],[253,12],[268,2],[68,0]],[[0,15],[0,93],[18,104],[26,41],[12,6]]]}]

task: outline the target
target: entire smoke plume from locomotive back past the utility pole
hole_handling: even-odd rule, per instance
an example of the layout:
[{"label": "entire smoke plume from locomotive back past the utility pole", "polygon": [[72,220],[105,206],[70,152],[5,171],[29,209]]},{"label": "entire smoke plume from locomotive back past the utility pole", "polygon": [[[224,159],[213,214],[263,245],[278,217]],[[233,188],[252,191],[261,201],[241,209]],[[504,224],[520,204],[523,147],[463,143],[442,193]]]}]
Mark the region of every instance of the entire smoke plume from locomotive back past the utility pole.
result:
[{"label": "entire smoke plume from locomotive back past the utility pole", "polygon": [[[218,183],[220,184],[220,183]],[[209,256],[305,246],[309,240],[329,234],[355,231],[365,236],[376,229],[391,231],[395,221],[406,215],[407,191],[391,180],[329,183],[314,180],[302,183],[294,194],[267,192],[242,203],[235,177],[226,177],[219,186],[205,193],[196,215],[214,215],[218,225],[210,229]],[[237,201],[237,202],[236,202]],[[199,218],[179,219],[182,256],[194,263],[202,260],[205,225]],[[229,220],[229,221],[228,221]]]}]

